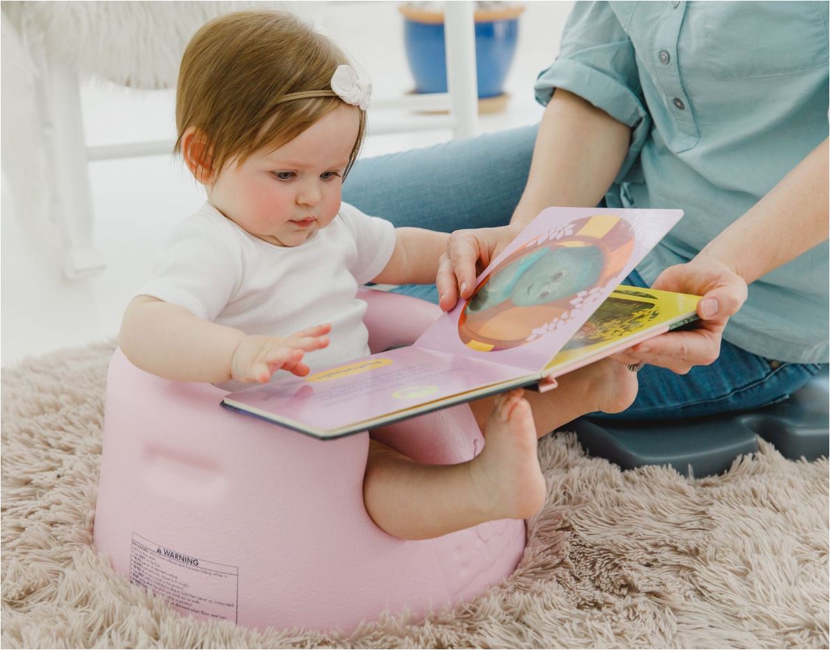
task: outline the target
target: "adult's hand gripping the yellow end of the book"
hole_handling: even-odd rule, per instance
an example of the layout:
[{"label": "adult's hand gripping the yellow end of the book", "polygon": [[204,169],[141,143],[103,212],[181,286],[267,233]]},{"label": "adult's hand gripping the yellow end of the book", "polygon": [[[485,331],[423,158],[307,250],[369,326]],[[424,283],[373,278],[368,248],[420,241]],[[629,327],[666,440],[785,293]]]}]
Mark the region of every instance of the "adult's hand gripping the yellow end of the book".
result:
[{"label": "adult's hand gripping the yellow end of the book", "polygon": [[693,330],[667,332],[625,352],[615,354],[624,364],[647,364],[686,374],[696,365],[709,365],[720,354],[720,337],[730,316],[746,301],[746,282],[717,257],[701,253],[686,264],[669,266],[654,281],[654,289],[701,296]]}]

